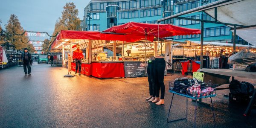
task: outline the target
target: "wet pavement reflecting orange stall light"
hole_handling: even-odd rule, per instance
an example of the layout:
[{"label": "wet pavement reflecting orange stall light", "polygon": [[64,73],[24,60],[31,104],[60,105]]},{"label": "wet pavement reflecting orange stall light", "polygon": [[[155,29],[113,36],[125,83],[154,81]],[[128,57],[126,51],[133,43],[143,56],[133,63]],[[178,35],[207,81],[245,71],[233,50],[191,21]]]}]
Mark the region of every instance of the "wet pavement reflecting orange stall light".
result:
[{"label": "wet pavement reflecting orange stall light", "polygon": [[[35,64],[35,63],[34,63]],[[35,64],[32,75],[23,67],[0,70],[0,128],[191,128],[195,102],[188,101],[188,118],[167,123],[172,93],[165,76],[164,105],[148,102],[147,77],[97,79],[88,76],[64,78],[67,69]],[[250,81],[256,85],[256,80]],[[222,87],[226,87],[223,85]],[[229,102],[217,91],[213,97],[216,128],[255,128],[256,111],[243,116],[246,105]],[[210,99],[203,99],[209,103]],[[214,127],[211,108],[197,104],[197,127]],[[186,116],[186,98],[174,95],[170,119]]]}]

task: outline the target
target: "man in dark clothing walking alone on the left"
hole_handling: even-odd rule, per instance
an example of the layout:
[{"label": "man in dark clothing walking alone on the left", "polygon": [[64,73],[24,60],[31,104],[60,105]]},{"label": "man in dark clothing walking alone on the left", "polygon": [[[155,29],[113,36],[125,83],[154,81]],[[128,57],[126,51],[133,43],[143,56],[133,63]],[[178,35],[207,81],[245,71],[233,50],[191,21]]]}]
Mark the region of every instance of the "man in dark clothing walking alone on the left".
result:
[{"label": "man in dark clothing walking alone on the left", "polygon": [[[24,52],[20,55],[21,60],[23,61],[23,69],[25,72],[25,75],[31,75],[31,67],[30,64],[32,65],[32,59],[31,59],[31,54],[28,52],[28,49],[25,48]],[[28,68],[28,72],[27,72]]]}]

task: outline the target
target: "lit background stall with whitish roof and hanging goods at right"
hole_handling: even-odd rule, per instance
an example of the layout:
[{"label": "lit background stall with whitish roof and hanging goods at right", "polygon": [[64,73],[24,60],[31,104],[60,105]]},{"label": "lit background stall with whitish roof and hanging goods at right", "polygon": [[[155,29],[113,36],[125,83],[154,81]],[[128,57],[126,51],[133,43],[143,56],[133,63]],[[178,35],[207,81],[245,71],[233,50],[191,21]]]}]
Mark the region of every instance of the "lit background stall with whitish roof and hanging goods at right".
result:
[{"label": "lit background stall with whitish roof and hanging goods at right", "polygon": [[[191,60],[188,64],[190,72],[193,72],[193,61],[200,61],[200,51],[201,51],[200,41],[186,41],[186,44],[175,44],[172,50],[173,59],[184,58],[182,61]],[[256,52],[256,47],[252,45],[242,45],[236,44],[236,52],[241,51],[244,48],[251,47],[251,52]],[[220,61],[220,51],[223,50],[223,62]],[[204,42],[203,46],[203,68],[230,68],[227,64],[227,59],[230,55],[233,55],[233,44],[230,43],[220,43],[220,42]],[[222,65],[220,65],[223,63]],[[195,64],[195,63],[194,63]],[[175,64],[173,64],[177,67]],[[181,70],[179,65],[178,70]],[[199,68],[198,68],[199,69]]]}]

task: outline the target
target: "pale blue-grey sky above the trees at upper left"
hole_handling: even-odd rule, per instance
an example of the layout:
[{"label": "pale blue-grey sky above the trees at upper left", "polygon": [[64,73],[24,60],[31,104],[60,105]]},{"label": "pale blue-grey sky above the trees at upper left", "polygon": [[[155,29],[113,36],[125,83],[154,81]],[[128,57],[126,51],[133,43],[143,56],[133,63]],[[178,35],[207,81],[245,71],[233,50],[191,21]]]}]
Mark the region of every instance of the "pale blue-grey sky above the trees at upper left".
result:
[{"label": "pale blue-grey sky above the trees at upper left", "polygon": [[23,29],[52,34],[56,20],[69,2],[76,5],[79,18],[83,20],[84,7],[90,0],[0,0],[1,26],[5,28],[10,15],[15,14]]}]

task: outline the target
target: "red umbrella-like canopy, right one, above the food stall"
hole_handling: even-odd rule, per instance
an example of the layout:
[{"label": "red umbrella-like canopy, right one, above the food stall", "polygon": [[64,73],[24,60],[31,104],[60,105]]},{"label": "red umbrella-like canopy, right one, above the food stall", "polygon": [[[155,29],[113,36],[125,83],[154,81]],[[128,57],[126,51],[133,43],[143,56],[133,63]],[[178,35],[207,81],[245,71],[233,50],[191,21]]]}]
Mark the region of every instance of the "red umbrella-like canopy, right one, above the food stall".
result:
[{"label": "red umbrella-like canopy, right one, above the food stall", "polygon": [[115,32],[135,35],[146,35],[147,40],[153,41],[155,38],[165,38],[174,35],[200,34],[200,29],[188,29],[171,24],[151,24],[128,22],[118,26],[112,26],[103,32]]}]

